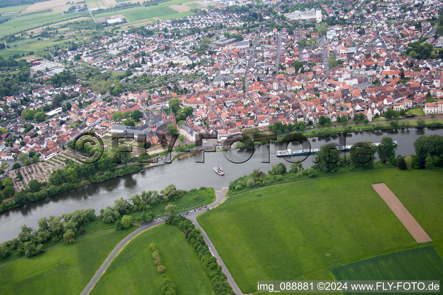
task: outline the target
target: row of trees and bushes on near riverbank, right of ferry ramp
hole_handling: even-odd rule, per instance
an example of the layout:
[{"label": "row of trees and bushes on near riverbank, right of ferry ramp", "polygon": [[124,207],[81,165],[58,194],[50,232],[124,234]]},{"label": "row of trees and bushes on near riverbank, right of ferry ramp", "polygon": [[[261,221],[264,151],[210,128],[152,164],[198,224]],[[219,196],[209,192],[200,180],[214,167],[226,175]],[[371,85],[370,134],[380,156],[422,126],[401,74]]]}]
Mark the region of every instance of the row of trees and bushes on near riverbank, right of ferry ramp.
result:
[{"label": "row of trees and bushes on near riverbank, right of ferry ramp", "polygon": [[[315,177],[320,172],[337,172],[340,167],[349,170],[373,169],[378,154],[379,161],[387,166],[396,166],[399,169],[432,169],[443,167],[443,136],[432,134],[422,135],[414,142],[415,154],[408,156],[396,155],[397,145],[391,137],[383,137],[380,144],[372,142],[357,142],[352,145],[349,154],[342,152],[333,144],[326,144],[315,154],[315,164],[304,169],[301,162],[293,163],[287,170],[286,165],[278,163],[272,165],[268,175],[259,169],[249,175],[241,176],[229,182],[229,190],[241,192],[245,188],[256,188],[291,181],[303,177]],[[289,173],[288,173],[289,172]]]}]

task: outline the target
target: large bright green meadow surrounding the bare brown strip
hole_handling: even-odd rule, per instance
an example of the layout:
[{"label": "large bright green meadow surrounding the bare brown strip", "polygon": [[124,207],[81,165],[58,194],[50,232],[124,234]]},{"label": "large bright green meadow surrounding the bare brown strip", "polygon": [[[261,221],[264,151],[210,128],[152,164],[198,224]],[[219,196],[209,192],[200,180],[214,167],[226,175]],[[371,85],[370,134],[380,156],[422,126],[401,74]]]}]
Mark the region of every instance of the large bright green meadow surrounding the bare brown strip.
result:
[{"label": "large bright green meadow surrounding the bare brown strip", "polygon": [[256,280],[320,279],[325,268],[416,245],[370,184],[385,182],[441,240],[442,171],[389,169],[261,188],[197,220],[246,294]]}]

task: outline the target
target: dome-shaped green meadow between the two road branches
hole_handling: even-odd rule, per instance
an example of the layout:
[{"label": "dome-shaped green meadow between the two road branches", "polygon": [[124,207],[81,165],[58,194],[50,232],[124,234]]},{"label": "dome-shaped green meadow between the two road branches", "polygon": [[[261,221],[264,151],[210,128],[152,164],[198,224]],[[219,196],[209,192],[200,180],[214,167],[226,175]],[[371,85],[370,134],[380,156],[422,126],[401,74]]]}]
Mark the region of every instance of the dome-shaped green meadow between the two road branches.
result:
[{"label": "dome-shaped green meadow between the two road branches", "polygon": [[[157,272],[149,247],[159,250],[164,274]],[[134,238],[114,258],[89,294],[162,294],[164,280],[171,280],[180,295],[210,295],[211,281],[194,248],[176,226],[161,224]]]}]

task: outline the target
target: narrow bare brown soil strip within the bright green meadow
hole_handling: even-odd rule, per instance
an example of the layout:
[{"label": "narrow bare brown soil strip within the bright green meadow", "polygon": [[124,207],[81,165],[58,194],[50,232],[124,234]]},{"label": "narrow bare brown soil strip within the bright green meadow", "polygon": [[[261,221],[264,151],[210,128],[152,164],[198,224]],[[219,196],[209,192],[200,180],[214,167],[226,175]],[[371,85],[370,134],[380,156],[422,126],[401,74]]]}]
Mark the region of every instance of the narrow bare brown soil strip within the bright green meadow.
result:
[{"label": "narrow bare brown soil strip within the bright green meadow", "polygon": [[415,220],[414,216],[409,213],[408,209],[400,202],[394,193],[385,183],[372,184],[373,189],[381,196],[381,199],[391,208],[392,212],[397,216],[404,227],[409,231],[417,243],[432,241],[420,224]]}]

